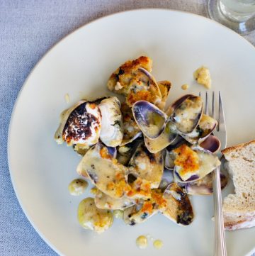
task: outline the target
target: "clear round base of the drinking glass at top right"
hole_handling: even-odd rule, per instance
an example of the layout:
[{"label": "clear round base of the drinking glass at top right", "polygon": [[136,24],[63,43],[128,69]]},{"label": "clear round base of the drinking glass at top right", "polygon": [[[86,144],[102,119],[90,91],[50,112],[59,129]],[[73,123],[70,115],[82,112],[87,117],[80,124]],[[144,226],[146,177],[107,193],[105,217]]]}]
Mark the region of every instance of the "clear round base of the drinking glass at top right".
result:
[{"label": "clear round base of the drinking glass at top right", "polygon": [[241,35],[255,30],[255,16],[247,21],[233,21],[227,18],[220,10],[219,0],[208,0],[208,16]]}]

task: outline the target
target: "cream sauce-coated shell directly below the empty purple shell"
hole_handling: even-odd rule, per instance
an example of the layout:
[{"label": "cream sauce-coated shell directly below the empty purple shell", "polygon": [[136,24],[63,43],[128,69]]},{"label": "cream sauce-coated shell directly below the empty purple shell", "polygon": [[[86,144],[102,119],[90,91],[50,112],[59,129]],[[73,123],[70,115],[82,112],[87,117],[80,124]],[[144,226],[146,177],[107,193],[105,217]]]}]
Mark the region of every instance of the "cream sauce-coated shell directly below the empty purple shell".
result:
[{"label": "cream sauce-coated shell directly below the empty purple shell", "polygon": [[164,150],[171,143],[174,143],[178,135],[172,131],[171,126],[173,126],[171,121],[168,121],[163,132],[154,140],[145,137],[145,145],[149,152],[157,153]]}]

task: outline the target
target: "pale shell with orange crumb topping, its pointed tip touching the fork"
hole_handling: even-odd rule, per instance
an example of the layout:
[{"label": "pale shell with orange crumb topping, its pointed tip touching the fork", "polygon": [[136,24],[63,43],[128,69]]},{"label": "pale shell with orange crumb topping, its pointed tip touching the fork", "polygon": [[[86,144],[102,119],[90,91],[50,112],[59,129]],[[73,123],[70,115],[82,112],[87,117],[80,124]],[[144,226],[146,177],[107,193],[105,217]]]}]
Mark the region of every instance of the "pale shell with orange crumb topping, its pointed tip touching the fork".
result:
[{"label": "pale shell with orange crumb topping, its pointed tip touching the fork", "polygon": [[[220,166],[220,160],[217,158],[216,155],[213,155],[212,152],[208,150],[204,150],[203,148],[200,147],[194,147],[193,152],[196,152],[196,155],[198,157],[198,169],[196,171],[192,171],[189,175],[187,175],[186,172],[186,177],[184,178],[183,175],[181,177],[180,174],[180,167],[177,167],[175,165],[174,167],[174,179],[175,182],[181,182],[181,183],[186,183],[186,182],[195,182],[198,179],[202,179],[205,177],[207,174],[212,172],[213,169],[216,167]],[[187,156],[188,157],[188,156]],[[186,167],[191,165],[191,158],[188,157],[188,165]],[[196,165],[194,162],[192,162],[192,165]]]}]

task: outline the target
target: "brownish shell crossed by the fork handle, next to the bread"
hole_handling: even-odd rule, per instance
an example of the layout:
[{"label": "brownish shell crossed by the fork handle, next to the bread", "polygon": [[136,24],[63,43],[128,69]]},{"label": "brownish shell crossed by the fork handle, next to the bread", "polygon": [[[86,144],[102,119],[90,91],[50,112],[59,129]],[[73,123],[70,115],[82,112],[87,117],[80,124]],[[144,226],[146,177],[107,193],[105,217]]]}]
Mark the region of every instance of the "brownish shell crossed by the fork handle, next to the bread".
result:
[{"label": "brownish shell crossed by the fork handle, next to the bread", "polygon": [[[221,172],[220,173],[220,184],[221,189],[225,189],[227,187],[227,174]],[[212,189],[212,172],[207,174],[202,179],[199,179],[196,182],[188,182],[185,184],[185,189],[190,195],[210,195],[213,193]]]}]

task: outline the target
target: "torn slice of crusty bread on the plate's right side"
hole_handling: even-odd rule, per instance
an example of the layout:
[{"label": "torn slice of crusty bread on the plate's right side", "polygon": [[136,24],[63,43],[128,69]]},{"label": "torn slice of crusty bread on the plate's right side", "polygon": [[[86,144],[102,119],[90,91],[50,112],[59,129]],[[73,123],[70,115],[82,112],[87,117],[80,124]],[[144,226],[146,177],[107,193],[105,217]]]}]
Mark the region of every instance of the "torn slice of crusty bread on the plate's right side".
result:
[{"label": "torn slice of crusty bread on the plate's right side", "polygon": [[255,226],[255,140],[222,150],[234,194],[223,200],[226,230]]}]

